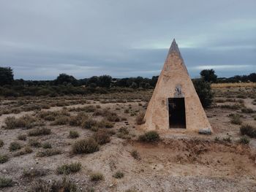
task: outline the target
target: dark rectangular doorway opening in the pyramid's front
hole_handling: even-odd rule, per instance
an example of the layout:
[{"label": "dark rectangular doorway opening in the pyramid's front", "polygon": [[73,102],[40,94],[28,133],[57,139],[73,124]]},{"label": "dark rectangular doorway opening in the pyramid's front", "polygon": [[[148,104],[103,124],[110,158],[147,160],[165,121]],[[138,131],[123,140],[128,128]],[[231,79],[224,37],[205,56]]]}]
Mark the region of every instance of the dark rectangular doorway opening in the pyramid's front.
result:
[{"label": "dark rectangular doorway opening in the pyramid's front", "polygon": [[184,98],[168,98],[169,128],[186,128]]}]

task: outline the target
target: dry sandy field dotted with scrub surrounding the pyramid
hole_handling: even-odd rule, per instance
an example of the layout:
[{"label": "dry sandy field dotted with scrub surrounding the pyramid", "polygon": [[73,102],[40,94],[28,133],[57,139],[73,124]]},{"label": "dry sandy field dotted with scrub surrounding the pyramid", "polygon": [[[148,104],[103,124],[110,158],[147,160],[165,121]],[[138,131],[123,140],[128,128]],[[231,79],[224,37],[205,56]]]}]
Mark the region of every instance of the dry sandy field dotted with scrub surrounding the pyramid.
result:
[{"label": "dry sandy field dotted with scrub surrounding the pyramid", "polygon": [[240,133],[256,127],[255,85],[213,88],[214,134],[160,132],[157,142],[141,142],[136,124],[151,90],[1,98],[0,177],[12,182],[0,186],[12,186],[0,191],[256,191],[256,139]]}]

